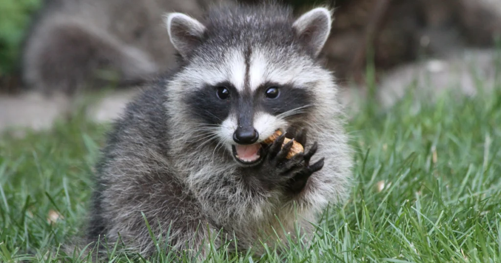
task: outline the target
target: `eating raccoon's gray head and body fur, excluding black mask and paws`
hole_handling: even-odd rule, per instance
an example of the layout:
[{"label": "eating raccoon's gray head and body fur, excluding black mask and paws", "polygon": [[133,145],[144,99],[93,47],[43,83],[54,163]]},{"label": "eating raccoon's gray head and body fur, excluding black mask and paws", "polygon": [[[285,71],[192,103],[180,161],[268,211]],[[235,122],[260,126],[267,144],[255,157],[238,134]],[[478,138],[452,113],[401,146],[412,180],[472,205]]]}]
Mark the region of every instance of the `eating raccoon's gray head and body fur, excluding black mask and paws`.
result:
[{"label": "eating raccoon's gray head and body fur, excluding black mask and paws", "polygon": [[[313,44],[305,42],[293,27],[295,21],[290,9],[275,5],[221,7],[200,21],[203,37],[185,54],[181,67],[131,102],[109,135],[97,168],[89,241],[99,235],[115,241],[120,234],[129,249],[151,254],[155,247],[143,212],[155,235],[165,234],[172,225],[169,244],[177,251],[201,250],[203,258],[207,249],[202,243],[211,231],[222,229],[228,239],[237,238],[239,249],[258,244],[254,248],[262,252],[259,241],[273,245],[274,229],[283,237],[281,224],[286,232],[294,233],[299,223],[303,232],[311,233],[309,222],[315,222],[328,203],[345,200],[351,149],[337,86],[317,58],[323,31],[307,38]],[[252,54],[245,63],[240,60],[244,54]],[[255,64],[260,67],[253,68]],[[240,67],[246,69],[245,80],[237,78],[243,78]],[[295,109],[268,114],[259,124],[260,141],[277,128],[294,126],[308,129],[306,150],[318,142],[312,162],[325,157],[324,166],[301,192],[290,194],[278,174],[256,172],[260,166],[237,164],[224,132],[233,131],[231,115],[225,120],[230,126],[218,125],[216,133],[207,133],[212,127],[193,115],[186,94],[224,79],[235,87],[241,81],[242,93],[273,80],[313,96],[313,105],[302,109],[305,117]],[[256,111],[255,120],[266,115]],[[223,241],[219,236],[214,240],[216,245]]]}]

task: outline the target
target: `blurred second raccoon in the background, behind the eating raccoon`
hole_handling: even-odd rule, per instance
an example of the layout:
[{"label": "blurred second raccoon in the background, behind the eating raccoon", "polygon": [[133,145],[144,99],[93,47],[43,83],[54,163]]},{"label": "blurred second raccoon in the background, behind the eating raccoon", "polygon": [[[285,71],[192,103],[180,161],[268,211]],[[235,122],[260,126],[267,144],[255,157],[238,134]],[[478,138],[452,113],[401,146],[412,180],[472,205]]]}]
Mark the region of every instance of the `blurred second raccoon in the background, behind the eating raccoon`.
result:
[{"label": "blurred second raccoon in the background, behind the eating raccoon", "polygon": [[197,17],[219,2],[47,0],[24,41],[24,85],[47,95],[73,95],[142,83],[175,64],[162,14]]}]

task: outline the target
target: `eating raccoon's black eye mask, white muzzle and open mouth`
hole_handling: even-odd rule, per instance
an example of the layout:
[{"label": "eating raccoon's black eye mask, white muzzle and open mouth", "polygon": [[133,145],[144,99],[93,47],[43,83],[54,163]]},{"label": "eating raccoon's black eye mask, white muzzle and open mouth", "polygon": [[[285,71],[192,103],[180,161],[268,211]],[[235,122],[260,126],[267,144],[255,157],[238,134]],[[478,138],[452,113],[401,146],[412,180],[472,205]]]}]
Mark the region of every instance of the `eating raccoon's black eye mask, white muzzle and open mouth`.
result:
[{"label": "eating raccoon's black eye mask, white muzzle and open mouth", "polygon": [[239,91],[230,82],[207,85],[186,99],[193,117],[214,128],[218,141],[241,165],[261,161],[262,142],[277,129],[284,131],[307,116],[312,96],[306,89],[264,83]]}]

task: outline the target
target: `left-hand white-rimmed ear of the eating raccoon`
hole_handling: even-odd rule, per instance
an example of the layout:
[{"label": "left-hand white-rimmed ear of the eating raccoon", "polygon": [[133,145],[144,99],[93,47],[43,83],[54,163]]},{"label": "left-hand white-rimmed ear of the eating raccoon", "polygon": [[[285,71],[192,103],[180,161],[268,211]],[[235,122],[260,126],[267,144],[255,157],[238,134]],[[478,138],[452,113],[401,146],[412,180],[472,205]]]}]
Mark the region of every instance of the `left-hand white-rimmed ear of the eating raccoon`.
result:
[{"label": "left-hand white-rimmed ear of the eating raccoon", "polygon": [[186,58],[202,41],[205,26],[196,19],[181,13],[169,13],[164,16],[170,42]]}]

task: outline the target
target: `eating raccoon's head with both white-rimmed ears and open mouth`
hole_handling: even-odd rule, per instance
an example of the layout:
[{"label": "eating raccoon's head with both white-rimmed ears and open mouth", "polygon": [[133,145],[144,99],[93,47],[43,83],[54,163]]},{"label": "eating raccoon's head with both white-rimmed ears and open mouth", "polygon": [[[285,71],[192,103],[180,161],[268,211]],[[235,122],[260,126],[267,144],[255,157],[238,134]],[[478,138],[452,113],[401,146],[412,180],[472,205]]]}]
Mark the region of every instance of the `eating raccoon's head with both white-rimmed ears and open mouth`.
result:
[{"label": "eating raccoon's head with both white-rimmed ears and open mouth", "polygon": [[205,26],[183,14],[166,16],[171,42],[185,63],[178,77],[182,90],[174,92],[187,119],[202,126],[195,130],[248,167],[262,161],[266,138],[306,125],[321,99],[316,89],[330,74],[317,57],[331,13],[317,8],[295,21],[245,12],[228,17]]}]

